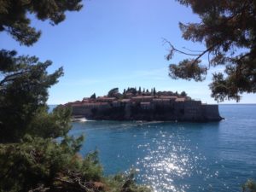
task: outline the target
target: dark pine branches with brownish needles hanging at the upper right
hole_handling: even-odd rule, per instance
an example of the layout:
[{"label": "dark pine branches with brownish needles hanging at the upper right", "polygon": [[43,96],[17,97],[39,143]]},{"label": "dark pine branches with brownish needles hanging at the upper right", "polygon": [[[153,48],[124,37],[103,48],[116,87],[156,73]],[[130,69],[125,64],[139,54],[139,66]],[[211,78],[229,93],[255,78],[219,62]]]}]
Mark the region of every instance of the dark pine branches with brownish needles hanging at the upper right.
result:
[{"label": "dark pine branches with brownish needles hanging at the upper right", "polygon": [[[240,100],[244,92],[256,92],[256,3],[253,0],[177,0],[191,7],[201,18],[198,23],[179,23],[183,38],[206,45],[206,49],[186,51],[176,49],[171,43],[167,60],[174,53],[189,55],[178,65],[170,65],[172,79],[205,79],[210,67],[221,66],[223,73],[214,74],[210,89],[215,100]],[[208,63],[201,64],[207,56]],[[192,57],[192,59],[191,59]]]}]

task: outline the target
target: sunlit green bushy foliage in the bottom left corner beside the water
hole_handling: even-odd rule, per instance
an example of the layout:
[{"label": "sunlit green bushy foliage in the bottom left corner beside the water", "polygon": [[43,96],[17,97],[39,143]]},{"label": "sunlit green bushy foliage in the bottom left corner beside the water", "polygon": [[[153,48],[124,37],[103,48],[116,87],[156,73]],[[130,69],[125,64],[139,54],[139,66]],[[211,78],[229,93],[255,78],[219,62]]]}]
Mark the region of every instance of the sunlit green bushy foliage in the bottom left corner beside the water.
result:
[{"label": "sunlit green bushy foliage in the bottom left corner beside the water", "polygon": [[83,159],[71,147],[74,141],[82,140],[26,136],[21,143],[0,144],[0,191],[151,191],[136,184],[134,173],[104,177],[97,152]]}]

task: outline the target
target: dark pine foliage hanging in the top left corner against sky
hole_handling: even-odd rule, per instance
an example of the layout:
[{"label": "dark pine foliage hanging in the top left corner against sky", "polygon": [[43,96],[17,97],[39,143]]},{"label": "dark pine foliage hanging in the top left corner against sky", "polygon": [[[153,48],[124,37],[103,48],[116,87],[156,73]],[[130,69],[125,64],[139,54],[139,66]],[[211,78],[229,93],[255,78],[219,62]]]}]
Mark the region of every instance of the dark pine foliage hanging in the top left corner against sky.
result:
[{"label": "dark pine foliage hanging in the top left corner against sky", "polygon": [[28,15],[57,25],[65,20],[66,11],[79,11],[81,8],[81,0],[3,0],[0,1],[0,32],[8,32],[20,44],[29,46],[38,41],[41,32],[30,25]]}]

